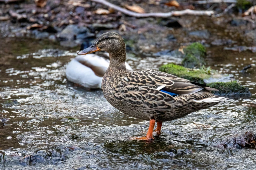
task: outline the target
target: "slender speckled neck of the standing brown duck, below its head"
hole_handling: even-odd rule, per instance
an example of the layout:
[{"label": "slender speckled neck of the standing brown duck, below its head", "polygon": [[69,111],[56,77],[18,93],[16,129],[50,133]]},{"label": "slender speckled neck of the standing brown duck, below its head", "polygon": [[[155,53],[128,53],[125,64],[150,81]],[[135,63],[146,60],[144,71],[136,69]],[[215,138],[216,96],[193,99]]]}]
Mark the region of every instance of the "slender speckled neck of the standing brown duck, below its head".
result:
[{"label": "slender speckled neck of the standing brown duck, below its head", "polygon": [[111,74],[112,76],[118,76],[125,74],[126,66],[126,50],[116,51],[114,53],[109,52],[110,57],[110,64],[109,68],[107,69],[107,73]]}]

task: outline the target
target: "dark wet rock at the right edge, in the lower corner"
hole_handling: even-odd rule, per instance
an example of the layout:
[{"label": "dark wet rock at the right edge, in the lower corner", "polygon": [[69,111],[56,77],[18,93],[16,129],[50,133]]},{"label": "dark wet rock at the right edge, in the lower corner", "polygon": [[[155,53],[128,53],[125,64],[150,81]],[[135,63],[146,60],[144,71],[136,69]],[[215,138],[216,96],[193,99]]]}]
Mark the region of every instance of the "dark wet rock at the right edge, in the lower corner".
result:
[{"label": "dark wet rock at the right edge, in the lower corner", "polygon": [[223,142],[221,148],[256,148],[256,135],[252,132],[246,132],[245,135],[241,137],[234,137]]}]

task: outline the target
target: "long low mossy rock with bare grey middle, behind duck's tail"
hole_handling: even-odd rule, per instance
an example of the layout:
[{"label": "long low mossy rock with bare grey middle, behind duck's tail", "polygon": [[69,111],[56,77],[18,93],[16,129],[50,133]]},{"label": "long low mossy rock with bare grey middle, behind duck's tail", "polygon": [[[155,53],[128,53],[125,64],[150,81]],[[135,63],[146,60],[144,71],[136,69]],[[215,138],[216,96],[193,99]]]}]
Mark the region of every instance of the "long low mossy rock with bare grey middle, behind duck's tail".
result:
[{"label": "long low mossy rock with bare grey middle, behind duck's tail", "polygon": [[[205,84],[219,91],[213,91],[216,95],[250,95],[247,87],[242,86],[237,81],[234,81],[232,76],[222,76],[214,73],[210,69],[189,69],[176,64],[166,64],[159,68],[160,71],[166,72],[181,78],[185,78],[197,83]],[[218,78],[214,78],[218,77]],[[224,81],[224,82],[220,82]]]}]

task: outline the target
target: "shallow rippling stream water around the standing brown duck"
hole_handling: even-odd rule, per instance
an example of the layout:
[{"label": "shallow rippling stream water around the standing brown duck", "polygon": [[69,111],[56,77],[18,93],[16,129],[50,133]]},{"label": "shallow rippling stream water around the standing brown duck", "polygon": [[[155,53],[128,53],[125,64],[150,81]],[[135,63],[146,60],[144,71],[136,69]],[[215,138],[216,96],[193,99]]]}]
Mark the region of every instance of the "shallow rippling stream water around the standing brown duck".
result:
[{"label": "shallow rippling stream water around the standing brown duck", "polygon": [[[32,42],[31,42],[32,43]],[[42,42],[33,42],[33,44]],[[47,44],[47,42],[45,42]],[[36,49],[58,46],[38,45]],[[101,91],[77,88],[65,79],[66,64],[76,53],[65,50],[24,51],[10,47],[0,70],[0,167],[5,169],[255,169],[256,149],[223,149],[245,132],[256,133],[256,57],[251,52],[208,48],[207,63],[233,74],[252,92],[184,118],[164,122],[162,135],[145,136],[148,121],[113,108]],[[7,50],[8,51],[8,50]],[[26,54],[26,55],[23,55]],[[154,68],[175,57],[135,58],[134,69]],[[239,73],[252,64],[247,73]]]}]

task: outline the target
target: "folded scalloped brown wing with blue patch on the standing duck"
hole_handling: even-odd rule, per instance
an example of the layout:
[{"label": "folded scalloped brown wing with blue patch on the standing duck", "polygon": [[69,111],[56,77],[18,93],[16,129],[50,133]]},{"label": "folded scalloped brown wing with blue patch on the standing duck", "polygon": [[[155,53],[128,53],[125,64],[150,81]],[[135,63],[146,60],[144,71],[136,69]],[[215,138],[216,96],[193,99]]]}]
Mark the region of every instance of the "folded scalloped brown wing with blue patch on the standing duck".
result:
[{"label": "folded scalloped brown wing with blue patch on the standing duck", "polygon": [[120,77],[117,82],[114,86],[116,99],[131,106],[143,106],[145,110],[155,108],[157,113],[154,114],[157,115],[163,115],[173,103],[182,107],[182,102],[190,99],[194,103],[220,102],[226,99],[209,92],[217,89],[156,70],[132,71]]}]

